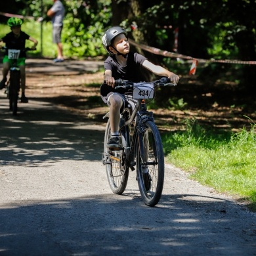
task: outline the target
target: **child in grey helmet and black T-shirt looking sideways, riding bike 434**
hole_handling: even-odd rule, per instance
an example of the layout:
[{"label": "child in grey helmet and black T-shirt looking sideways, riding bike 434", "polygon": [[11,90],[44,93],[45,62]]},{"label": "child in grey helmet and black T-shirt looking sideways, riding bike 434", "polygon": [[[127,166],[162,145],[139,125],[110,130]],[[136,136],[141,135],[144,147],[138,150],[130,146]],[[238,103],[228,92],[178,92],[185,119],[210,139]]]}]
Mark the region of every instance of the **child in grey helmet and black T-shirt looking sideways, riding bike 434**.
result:
[{"label": "child in grey helmet and black T-shirt looking sideways, riding bike 434", "polygon": [[119,121],[120,112],[127,103],[134,106],[129,95],[114,92],[115,79],[123,79],[139,83],[143,80],[140,67],[146,68],[156,75],[169,77],[172,83],[177,84],[179,76],[156,66],[139,53],[131,53],[127,39],[127,32],[120,27],[108,29],[103,37],[102,44],[110,56],[104,62],[104,83],[100,87],[102,100],[110,107],[111,137],[108,140],[108,148],[119,146]]}]

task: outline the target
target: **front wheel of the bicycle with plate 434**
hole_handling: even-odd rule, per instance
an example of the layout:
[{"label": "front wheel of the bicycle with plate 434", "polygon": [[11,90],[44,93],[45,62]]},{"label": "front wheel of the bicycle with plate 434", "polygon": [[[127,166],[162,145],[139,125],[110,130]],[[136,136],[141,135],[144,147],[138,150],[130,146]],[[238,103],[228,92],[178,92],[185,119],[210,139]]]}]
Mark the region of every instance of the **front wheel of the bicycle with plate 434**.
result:
[{"label": "front wheel of the bicycle with plate 434", "polygon": [[[143,150],[140,150],[139,145],[142,145]],[[136,167],[140,195],[146,205],[153,207],[160,201],[164,180],[163,145],[153,121],[144,123],[142,137],[138,139]]]}]

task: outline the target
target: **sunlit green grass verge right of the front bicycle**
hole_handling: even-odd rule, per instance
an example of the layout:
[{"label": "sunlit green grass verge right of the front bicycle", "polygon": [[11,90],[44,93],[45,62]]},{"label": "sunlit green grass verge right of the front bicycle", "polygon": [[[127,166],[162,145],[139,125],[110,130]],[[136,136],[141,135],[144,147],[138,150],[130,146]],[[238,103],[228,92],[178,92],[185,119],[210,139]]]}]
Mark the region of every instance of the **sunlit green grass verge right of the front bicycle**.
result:
[{"label": "sunlit green grass verge right of the front bicycle", "polygon": [[201,184],[235,196],[256,211],[256,125],[215,133],[188,121],[186,131],[163,137],[167,161]]}]

